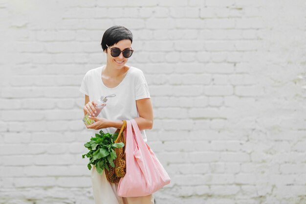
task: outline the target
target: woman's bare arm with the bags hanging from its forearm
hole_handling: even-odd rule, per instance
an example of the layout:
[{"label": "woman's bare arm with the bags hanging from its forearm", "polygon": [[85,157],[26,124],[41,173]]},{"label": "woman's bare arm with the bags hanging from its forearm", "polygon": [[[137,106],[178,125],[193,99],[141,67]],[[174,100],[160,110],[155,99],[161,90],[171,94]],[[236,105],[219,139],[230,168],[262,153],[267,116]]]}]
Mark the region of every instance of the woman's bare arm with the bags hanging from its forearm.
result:
[{"label": "woman's bare arm with the bags hanging from its forearm", "polygon": [[[139,113],[139,117],[134,118],[139,130],[148,130],[153,127],[153,107],[151,98],[143,98],[136,100],[137,110]],[[92,117],[96,123],[87,126],[89,129],[99,130],[102,128],[121,128],[123,122],[122,121],[111,121],[105,118]]]}]

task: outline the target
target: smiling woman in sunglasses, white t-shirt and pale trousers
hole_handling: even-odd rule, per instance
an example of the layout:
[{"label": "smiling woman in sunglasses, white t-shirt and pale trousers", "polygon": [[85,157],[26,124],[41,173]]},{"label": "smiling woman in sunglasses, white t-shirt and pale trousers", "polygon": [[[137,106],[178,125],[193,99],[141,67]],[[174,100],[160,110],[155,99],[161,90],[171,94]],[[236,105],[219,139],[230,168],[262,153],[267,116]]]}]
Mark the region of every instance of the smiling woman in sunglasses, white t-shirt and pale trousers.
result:
[{"label": "smiling woman in sunglasses, white t-shirt and pale trousers", "polygon": [[[143,72],[127,66],[133,50],[132,33],[123,26],[112,26],[102,38],[102,49],[107,54],[106,65],[89,70],[80,88],[85,94],[84,114],[95,123],[87,126],[93,133],[102,129],[113,134],[121,128],[122,120],[135,119],[145,141],[145,129],[152,129],[153,108],[150,93]],[[107,101],[106,107],[95,115],[93,100],[102,95],[116,94]],[[153,196],[121,198],[117,195],[117,184],[109,183],[105,172],[100,175],[95,167],[91,169],[93,196],[96,204],[154,204]]]}]

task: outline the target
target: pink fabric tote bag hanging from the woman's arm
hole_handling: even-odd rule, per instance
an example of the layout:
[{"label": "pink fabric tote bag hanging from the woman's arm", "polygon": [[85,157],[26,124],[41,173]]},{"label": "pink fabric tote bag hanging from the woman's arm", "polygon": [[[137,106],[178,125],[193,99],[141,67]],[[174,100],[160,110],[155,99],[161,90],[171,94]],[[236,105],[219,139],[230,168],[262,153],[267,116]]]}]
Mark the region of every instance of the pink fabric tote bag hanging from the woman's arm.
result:
[{"label": "pink fabric tote bag hanging from the woman's arm", "polygon": [[166,170],[143,140],[135,120],[127,121],[125,135],[127,173],[119,181],[118,195],[121,197],[147,196],[169,184],[170,178]]}]

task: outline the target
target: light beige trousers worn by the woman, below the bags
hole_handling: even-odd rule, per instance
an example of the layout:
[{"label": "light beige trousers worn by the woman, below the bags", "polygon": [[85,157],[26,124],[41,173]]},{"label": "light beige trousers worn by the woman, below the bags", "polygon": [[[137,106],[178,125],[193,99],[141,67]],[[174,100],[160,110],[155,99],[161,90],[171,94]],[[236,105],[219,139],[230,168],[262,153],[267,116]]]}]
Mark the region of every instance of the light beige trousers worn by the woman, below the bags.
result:
[{"label": "light beige trousers worn by the woman, below the bags", "polygon": [[100,175],[95,166],[91,168],[91,181],[95,204],[154,204],[153,195],[129,198],[118,196],[118,185],[110,183],[104,171]]}]

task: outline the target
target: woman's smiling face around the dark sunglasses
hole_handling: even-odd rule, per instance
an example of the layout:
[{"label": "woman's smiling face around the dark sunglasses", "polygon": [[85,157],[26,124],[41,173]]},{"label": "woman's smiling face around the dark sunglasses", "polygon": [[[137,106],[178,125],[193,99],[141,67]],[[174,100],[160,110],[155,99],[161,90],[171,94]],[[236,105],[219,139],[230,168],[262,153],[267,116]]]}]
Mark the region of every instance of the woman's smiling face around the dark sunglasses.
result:
[{"label": "woman's smiling face around the dark sunglasses", "polygon": [[129,58],[125,58],[122,54],[122,52],[120,53],[120,55],[118,57],[113,57],[110,54],[110,48],[119,48],[121,51],[125,50],[125,49],[131,49],[131,41],[130,40],[122,40],[119,41],[117,44],[111,45],[109,46],[104,52],[107,53],[107,64],[111,67],[117,68],[117,69],[121,69],[124,67],[124,65],[128,62]]}]

